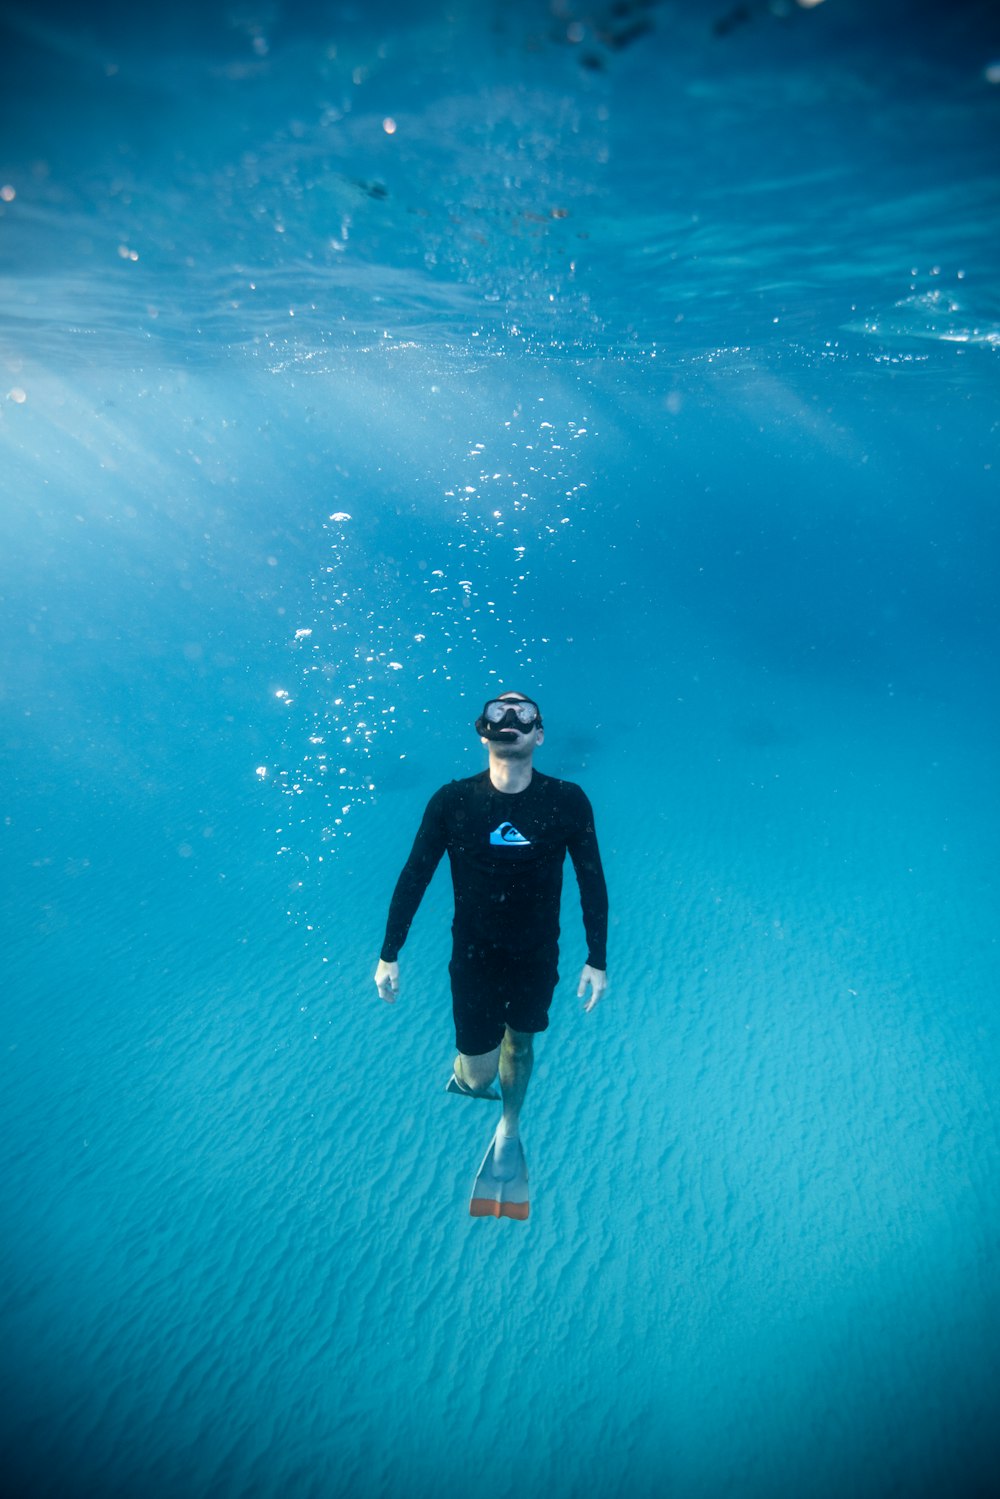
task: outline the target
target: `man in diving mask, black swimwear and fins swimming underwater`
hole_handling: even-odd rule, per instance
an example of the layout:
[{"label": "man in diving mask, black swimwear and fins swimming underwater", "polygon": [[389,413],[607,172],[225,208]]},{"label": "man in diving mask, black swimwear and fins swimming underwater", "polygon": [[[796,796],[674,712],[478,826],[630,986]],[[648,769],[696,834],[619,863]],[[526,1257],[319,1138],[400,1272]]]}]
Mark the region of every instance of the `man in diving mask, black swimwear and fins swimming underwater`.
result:
[{"label": "man in diving mask, black swimwear and fins swimming underwater", "polygon": [[[454,886],[448,964],[459,1055],[448,1091],[496,1099],[504,1115],[486,1153],[471,1213],[528,1217],[520,1109],[532,1043],[549,1025],[559,977],[559,896],[568,851],[580,886],[588,956],[577,997],[585,1010],[604,994],[607,887],[591,803],[571,781],[532,766],[544,741],[538,705],[523,693],[490,699],[475,723],[489,769],[436,791],[424,812],[388,910],[375,970],[379,995],[399,994],[399,949],[442,853]],[[588,992],[589,991],[589,992]]]}]

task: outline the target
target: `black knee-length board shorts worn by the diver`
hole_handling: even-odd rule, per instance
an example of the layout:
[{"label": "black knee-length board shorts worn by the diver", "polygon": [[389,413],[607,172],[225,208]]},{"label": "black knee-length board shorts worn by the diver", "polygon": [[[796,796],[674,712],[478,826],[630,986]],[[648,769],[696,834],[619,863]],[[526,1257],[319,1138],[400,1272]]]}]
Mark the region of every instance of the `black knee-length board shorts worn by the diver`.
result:
[{"label": "black knee-length board shorts worn by the diver", "polygon": [[481,1057],[504,1039],[504,1028],[549,1028],[549,1006],[559,982],[559,947],[529,952],[484,947],[456,937],[448,964],[454,1039],[466,1057]]}]

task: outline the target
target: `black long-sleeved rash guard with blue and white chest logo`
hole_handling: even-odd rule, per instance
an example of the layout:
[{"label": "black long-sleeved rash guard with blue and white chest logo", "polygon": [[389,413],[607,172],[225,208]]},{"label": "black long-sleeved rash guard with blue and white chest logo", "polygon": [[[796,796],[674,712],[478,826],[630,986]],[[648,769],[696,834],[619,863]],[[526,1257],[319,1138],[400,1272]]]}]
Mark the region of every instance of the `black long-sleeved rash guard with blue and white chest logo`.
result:
[{"label": "black long-sleeved rash guard with blue and white chest logo", "polygon": [[442,853],[451,862],[457,941],[528,952],[559,937],[562,863],[580,886],[586,961],[607,967],[607,886],[591,803],[573,781],[534,770],[498,791],[489,770],[450,781],[427,802],[388,908],[382,959],[396,962]]}]

